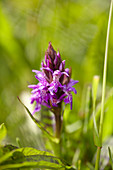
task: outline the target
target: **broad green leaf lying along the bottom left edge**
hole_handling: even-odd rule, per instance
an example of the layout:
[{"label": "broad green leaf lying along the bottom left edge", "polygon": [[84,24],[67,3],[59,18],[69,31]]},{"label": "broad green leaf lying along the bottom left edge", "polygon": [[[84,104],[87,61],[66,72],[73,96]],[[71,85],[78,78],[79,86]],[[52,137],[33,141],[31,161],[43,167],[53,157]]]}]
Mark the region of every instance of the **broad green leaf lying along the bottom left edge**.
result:
[{"label": "broad green leaf lying along the bottom left edge", "polygon": [[[1,161],[2,160],[2,161]],[[73,169],[64,160],[53,154],[34,148],[19,148],[6,153],[0,158],[0,169],[7,168],[47,168],[47,169]]]}]

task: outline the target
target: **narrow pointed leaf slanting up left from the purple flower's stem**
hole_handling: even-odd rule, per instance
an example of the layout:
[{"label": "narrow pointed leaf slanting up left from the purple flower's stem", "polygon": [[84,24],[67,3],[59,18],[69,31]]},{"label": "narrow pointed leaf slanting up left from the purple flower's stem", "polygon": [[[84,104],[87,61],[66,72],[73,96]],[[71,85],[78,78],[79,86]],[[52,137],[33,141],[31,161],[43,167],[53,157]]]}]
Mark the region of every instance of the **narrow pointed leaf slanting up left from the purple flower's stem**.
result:
[{"label": "narrow pointed leaf slanting up left from the purple flower's stem", "polygon": [[46,136],[52,141],[52,142],[55,142],[55,143],[59,143],[59,139],[58,138],[55,138],[54,136],[52,136],[46,129],[45,129],[45,125],[37,120],[36,118],[34,118],[31,114],[31,112],[29,111],[29,109],[22,103],[22,101],[19,99],[18,97],[18,100],[20,101],[20,103],[24,106],[24,108],[26,109],[27,113],[29,114],[29,116],[31,117],[31,119],[36,123],[36,125],[46,134]]}]

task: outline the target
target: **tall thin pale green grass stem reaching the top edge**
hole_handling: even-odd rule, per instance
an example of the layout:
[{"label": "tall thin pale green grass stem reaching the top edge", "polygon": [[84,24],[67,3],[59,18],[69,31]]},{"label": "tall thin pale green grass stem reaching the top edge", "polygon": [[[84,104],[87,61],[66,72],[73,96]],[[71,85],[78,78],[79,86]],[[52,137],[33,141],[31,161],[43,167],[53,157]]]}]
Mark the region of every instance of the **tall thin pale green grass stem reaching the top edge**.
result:
[{"label": "tall thin pale green grass stem reaching the top edge", "polygon": [[[111,5],[110,5],[108,28],[107,28],[107,37],[106,37],[106,47],[105,47],[105,60],[104,60],[104,71],[103,71],[103,86],[102,86],[102,104],[101,104],[101,115],[100,115],[100,126],[99,126],[99,137],[100,137],[101,141],[102,141],[102,132],[103,132],[103,120],[104,120],[104,103],[105,103],[107,56],[108,56],[107,54],[108,54],[108,44],[109,44],[109,33],[110,33],[112,6],[113,6],[113,0],[111,0]],[[95,170],[99,170],[100,153],[101,153],[101,148],[98,147],[97,148],[96,163],[95,163]]]}]

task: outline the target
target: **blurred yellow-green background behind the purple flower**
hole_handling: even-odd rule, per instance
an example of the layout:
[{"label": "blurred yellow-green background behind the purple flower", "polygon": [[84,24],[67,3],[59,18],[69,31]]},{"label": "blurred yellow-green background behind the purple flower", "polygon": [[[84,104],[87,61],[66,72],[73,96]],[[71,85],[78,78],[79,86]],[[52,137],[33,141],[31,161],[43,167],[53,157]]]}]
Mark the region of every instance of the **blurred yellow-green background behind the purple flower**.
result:
[{"label": "blurred yellow-green background behind the purple flower", "polygon": [[[4,122],[8,129],[5,142],[16,144],[16,137],[19,137],[23,146],[45,149],[40,130],[29,119],[17,96],[32,110],[27,86],[36,83],[32,69],[40,69],[49,41],[55,50],[59,49],[66,67],[72,67],[72,78],[79,80],[78,94],[73,96],[73,110],[70,111],[69,106],[65,109],[67,125],[83,120],[83,91],[94,75],[100,75],[100,100],[109,5],[109,0],[0,1],[0,123]],[[108,91],[113,86],[112,37],[113,22],[108,53]],[[113,106],[109,105],[104,139],[113,133]],[[74,135],[77,138],[78,132]],[[85,140],[81,142],[84,146]],[[68,145],[74,153],[76,146],[70,146],[69,142]]]}]

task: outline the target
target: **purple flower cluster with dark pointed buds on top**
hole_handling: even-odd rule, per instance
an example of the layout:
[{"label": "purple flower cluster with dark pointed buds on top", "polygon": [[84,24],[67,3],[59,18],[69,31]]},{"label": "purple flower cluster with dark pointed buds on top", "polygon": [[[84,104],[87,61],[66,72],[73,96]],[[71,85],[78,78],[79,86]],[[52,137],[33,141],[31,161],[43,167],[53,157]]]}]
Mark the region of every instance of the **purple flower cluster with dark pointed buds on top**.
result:
[{"label": "purple flower cluster with dark pointed buds on top", "polygon": [[45,53],[45,63],[42,61],[41,71],[32,70],[36,73],[37,85],[29,85],[32,88],[31,103],[36,101],[36,107],[32,114],[41,109],[41,105],[50,109],[56,108],[64,101],[70,103],[72,109],[72,94],[75,90],[73,85],[78,81],[71,79],[71,69],[65,69],[65,60],[62,61],[60,53],[56,53],[51,42]]}]

